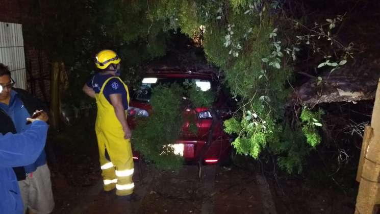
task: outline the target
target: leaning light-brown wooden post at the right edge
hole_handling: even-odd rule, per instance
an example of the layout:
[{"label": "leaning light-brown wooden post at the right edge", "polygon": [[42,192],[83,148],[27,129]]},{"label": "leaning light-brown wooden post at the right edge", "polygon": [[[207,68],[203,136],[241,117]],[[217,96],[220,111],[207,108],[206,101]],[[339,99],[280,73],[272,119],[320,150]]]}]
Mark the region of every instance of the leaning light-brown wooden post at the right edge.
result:
[{"label": "leaning light-brown wooden post at the right edge", "polygon": [[[380,81],[380,80],[379,80]],[[357,214],[376,213],[378,204],[380,204],[380,82],[377,85],[375,104],[373,106],[371,127],[372,134],[367,133],[368,146],[364,154],[363,167],[359,166],[358,175],[360,176],[359,192],[356,199]],[[365,148],[366,146],[362,146]],[[361,173],[360,173],[361,171]],[[358,179],[358,177],[357,177]]]}]

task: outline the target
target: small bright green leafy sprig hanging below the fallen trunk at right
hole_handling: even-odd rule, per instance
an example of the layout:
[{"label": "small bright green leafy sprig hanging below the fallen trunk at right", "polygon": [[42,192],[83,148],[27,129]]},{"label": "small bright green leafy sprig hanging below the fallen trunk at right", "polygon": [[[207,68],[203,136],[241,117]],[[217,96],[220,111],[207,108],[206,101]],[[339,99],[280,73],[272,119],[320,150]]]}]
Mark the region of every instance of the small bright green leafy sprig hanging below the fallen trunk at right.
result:
[{"label": "small bright green leafy sprig hanging below the fallen trunk at right", "polygon": [[324,112],[319,109],[319,111],[310,111],[308,108],[304,108],[301,113],[302,121],[302,132],[306,137],[306,141],[311,147],[316,147],[322,140],[318,133],[317,127],[321,127],[321,115]]}]

